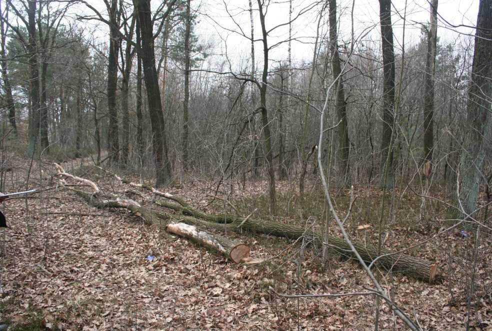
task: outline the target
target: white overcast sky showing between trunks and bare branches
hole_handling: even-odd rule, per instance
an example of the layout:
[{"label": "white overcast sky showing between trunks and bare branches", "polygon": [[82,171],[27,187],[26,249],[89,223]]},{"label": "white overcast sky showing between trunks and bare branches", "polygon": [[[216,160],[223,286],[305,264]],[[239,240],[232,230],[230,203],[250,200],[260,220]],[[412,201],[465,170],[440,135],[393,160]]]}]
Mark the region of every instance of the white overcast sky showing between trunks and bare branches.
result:
[{"label": "white overcast sky showing between trunks and bare branches", "polygon": [[[264,0],[268,2],[268,0]],[[458,38],[466,37],[466,34],[474,34],[474,30],[469,27],[450,26],[447,22],[453,25],[470,25],[476,24],[476,16],[478,12],[479,0],[439,0],[438,4],[438,28],[437,35],[441,41],[450,42]],[[260,37],[260,25],[257,1],[251,0],[253,4],[254,17],[254,34],[256,38]],[[278,24],[288,21],[288,0],[270,0],[270,5],[266,13],[267,29]],[[292,0],[294,17],[299,10],[309,6],[313,0]],[[105,12],[105,7],[101,0],[91,0],[91,3]],[[152,6],[160,3],[159,0],[152,0]],[[405,27],[405,43],[416,43],[420,35],[420,25],[429,21],[429,4],[427,0],[393,0],[392,1],[392,23],[394,33],[395,51],[401,47],[402,31],[403,31],[403,16],[406,3],[406,27]],[[193,9],[199,11],[199,23],[196,25],[196,32],[200,36],[202,42],[214,45],[212,56],[209,60],[214,63],[224,61],[224,54],[227,53],[229,60],[234,67],[248,66],[250,58],[250,42],[248,39],[240,36],[238,33],[228,31],[227,29],[242,31],[249,35],[250,21],[247,0],[191,0]],[[337,18],[339,20],[339,40],[349,41],[351,30],[351,6],[352,0],[337,1]],[[228,13],[226,11],[228,9]],[[297,37],[299,41],[292,41],[292,61],[299,62],[301,60],[309,61],[312,58],[314,36],[316,34],[317,13],[320,5],[314,7],[309,12],[303,14],[292,24],[292,37]],[[82,9],[82,8],[80,8]],[[90,10],[85,10],[89,13]],[[234,20],[229,16],[231,14]],[[327,12],[321,19],[321,33],[327,32]],[[445,21],[445,20],[447,21]],[[354,35],[358,35],[366,28],[372,28],[366,39],[377,41],[380,39],[379,27],[379,2],[378,0],[354,0]],[[80,24],[82,24],[81,22]],[[94,21],[86,22],[94,24]],[[94,26],[89,26],[88,29],[93,29]],[[99,24],[94,31],[94,36],[98,42],[107,42],[107,28],[104,24]],[[268,43],[274,44],[288,38],[288,25],[276,29],[268,35]],[[256,63],[262,62],[262,44],[260,41],[255,42]],[[457,49],[459,51],[459,49]],[[270,60],[286,60],[287,58],[287,43],[281,44],[270,52]]]}]

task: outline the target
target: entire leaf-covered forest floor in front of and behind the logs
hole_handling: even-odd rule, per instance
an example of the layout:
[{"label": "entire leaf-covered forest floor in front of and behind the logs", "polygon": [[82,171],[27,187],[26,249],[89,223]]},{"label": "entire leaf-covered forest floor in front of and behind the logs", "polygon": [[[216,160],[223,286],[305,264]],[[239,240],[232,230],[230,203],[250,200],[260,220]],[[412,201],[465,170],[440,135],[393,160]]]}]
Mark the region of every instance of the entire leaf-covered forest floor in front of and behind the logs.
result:
[{"label": "entire leaf-covered forest floor in front of and behind the logs", "polygon": [[[50,187],[52,163],[9,156],[4,190]],[[124,185],[102,171],[74,160],[65,170],[97,181],[108,191]],[[137,178],[134,178],[137,180]],[[268,217],[266,183],[232,182],[219,192],[244,215]],[[279,182],[278,221],[319,227],[326,216],[322,191],[307,186],[303,217],[296,184]],[[210,189],[211,188],[211,189]],[[434,197],[443,198],[436,187]],[[233,211],[213,199],[213,181],[189,180],[169,193],[186,197],[204,211]],[[344,214],[348,190],[333,190],[336,209]],[[374,243],[382,192],[356,186],[352,215],[346,226],[355,240]],[[420,217],[421,198],[396,190],[393,215],[384,243],[402,249],[444,228],[445,208],[428,201]],[[231,264],[185,239],[121,210],[87,206],[58,187],[3,203],[10,228],[0,229],[0,324],[9,329],[373,329],[372,296],[284,298],[287,294],[365,291],[371,283],[353,260],[336,254],[322,263],[320,252],[306,242],[292,243],[267,235],[228,236],[245,241],[256,265]],[[333,222],[329,232],[339,234]],[[357,229],[365,225],[364,229]],[[490,224],[490,222],[488,222]],[[369,226],[370,225],[370,226]],[[395,302],[428,330],[464,329],[466,291],[475,270],[470,302],[472,329],[492,328],[492,234],[483,230],[472,265],[471,232],[451,230],[418,246],[410,254],[435,260],[443,280],[428,284],[400,274],[382,273],[381,284]],[[222,233],[223,234],[223,233]],[[147,256],[154,256],[152,261]],[[386,304],[380,307],[380,328],[405,329]]]}]

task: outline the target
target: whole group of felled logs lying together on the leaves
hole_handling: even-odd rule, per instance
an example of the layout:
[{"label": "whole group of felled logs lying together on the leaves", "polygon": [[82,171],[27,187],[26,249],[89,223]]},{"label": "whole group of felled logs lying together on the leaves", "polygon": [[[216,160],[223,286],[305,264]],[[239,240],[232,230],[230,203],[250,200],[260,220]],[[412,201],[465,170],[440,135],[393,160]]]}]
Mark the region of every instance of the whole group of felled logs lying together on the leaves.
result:
[{"label": "whole group of felled logs lying together on the leaves", "polygon": [[[64,174],[60,175],[65,176]],[[120,179],[119,177],[117,178]],[[132,186],[137,187],[136,184],[133,184]],[[152,190],[151,188],[145,188]],[[227,256],[234,262],[238,262],[242,258],[246,258],[249,255],[249,248],[246,245],[242,245],[241,243],[237,243],[235,241],[230,241],[222,236],[210,234],[205,231],[200,232],[198,228],[223,230],[224,224],[226,224],[225,226],[228,230],[239,233],[246,230],[254,233],[284,237],[292,240],[305,237],[310,239],[316,246],[322,247],[323,245],[323,234],[320,231],[306,229],[298,225],[283,224],[271,220],[250,219],[248,217],[242,217],[234,214],[209,214],[191,208],[186,203],[176,204],[163,200],[147,198],[147,200],[152,201],[156,205],[179,212],[179,214],[174,214],[163,211],[155,211],[154,208],[150,209],[143,207],[131,199],[117,197],[114,194],[112,194],[110,198],[107,198],[107,195],[102,195],[95,189],[93,193],[87,193],[75,189],[72,189],[72,191],[83,197],[84,200],[90,205],[98,208],[126,208],[133,214],[141,217],[147,224],[166,226],[167,230],[169,230],[168,223],[172,222],[174,224],[170,225],[170,232],[182,235],[186,238],[192,239],[193,241],[200,242],[205,246],[211,247]],[[143,196],[142,194],[139,195]],[[164,194],[158,195],[165,197]],[[174,201],[184,201],[181,198],[176,199],[174,195],[170,196]],[[177,223],[193,225],[194,229],[191,230],[191,228],[187,228],[184,225],[177,226]],[[204,233],[207,233],[209,236]],[[384,249],[382,249],[381,253],[378,255],[377,249],[373,246],[365,245],[359,242],[352,242],[352,244],[357,249],[362,259],[368,263],[372,262],[377,256],[379,256],[378,264],[387,270],[391,270],[392,272],[399,272],[427,282],[433,282],[436,278],[437,263],[433,263],[420,257],[415,257],[404,253],[391,252]],[[341,254],[353,257],[353,252],[351,251],[349,245],[340,237],[327,236],[324,238],[324,245],[329,246]]]}]

